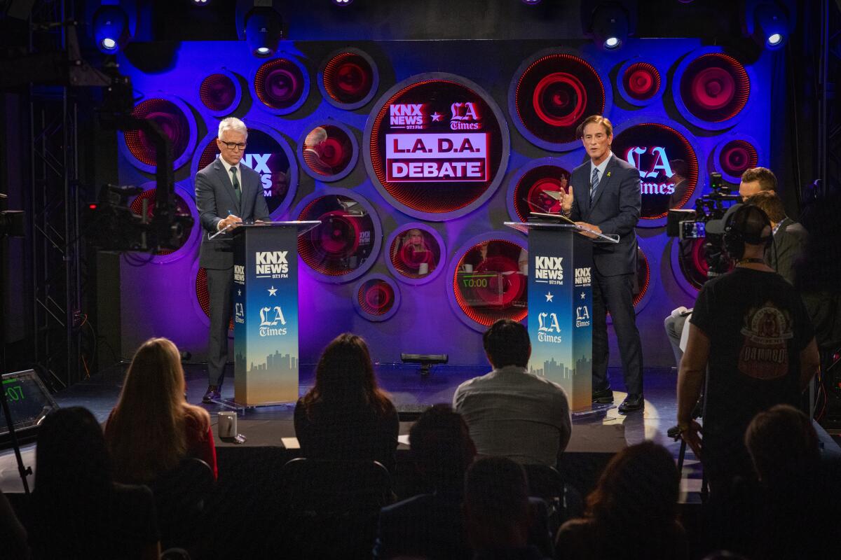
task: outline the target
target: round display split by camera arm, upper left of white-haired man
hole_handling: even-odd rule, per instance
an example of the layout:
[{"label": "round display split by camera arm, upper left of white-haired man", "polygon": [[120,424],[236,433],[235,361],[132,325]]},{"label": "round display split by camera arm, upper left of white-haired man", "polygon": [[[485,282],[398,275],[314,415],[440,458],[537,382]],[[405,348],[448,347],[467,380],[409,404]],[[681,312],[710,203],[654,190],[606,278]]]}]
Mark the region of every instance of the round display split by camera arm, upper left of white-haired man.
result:
[{"label": "round display split by camera arm, upper left of white-haired man", "polygon": [[[178,169],[193,154],[196,144],[196,122],[189,107],[175,97],[151,97],[138,103],[131,111],[135,118],[154,121],[172,144],[172,166]],[[130,155],[135,166],[147,173],[157,168],[155,144],[141,130],[120,133],[121,146]]]}]

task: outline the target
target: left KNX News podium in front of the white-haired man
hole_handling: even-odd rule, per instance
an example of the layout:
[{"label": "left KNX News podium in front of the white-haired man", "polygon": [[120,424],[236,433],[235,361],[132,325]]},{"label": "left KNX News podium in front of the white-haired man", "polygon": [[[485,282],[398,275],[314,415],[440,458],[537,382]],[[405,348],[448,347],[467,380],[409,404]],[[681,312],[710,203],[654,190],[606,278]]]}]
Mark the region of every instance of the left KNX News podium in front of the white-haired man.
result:
[{"label": "left KNX News podium in front of the white-haired man", "polygon": [[233,230],[235,408],[298,400],[298,236],[320,223]]}]

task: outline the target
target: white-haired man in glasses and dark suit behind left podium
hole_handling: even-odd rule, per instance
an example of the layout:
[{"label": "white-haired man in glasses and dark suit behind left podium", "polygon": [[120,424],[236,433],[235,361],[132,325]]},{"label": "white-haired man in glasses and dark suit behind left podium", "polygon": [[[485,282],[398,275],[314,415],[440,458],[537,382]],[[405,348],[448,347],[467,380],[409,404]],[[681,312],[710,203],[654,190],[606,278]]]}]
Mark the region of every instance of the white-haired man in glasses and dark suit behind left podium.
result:
[{"label": "white-haired man in glasses and dark suit behind left podium", "polygon": [[[220,157],[196,174],[196,207],[204,229],[198,264],[207,271],[210,297],[209,383],[202,402],[218,400],[225,380],[234,285],[234,243],[230,229],[243,220],[268,219],[260,175],[240,163],[246,139],[245,123],[234,117],[223,119],[216,139]],[[210,239],[225,228],[229,228],[228,232]]]}]

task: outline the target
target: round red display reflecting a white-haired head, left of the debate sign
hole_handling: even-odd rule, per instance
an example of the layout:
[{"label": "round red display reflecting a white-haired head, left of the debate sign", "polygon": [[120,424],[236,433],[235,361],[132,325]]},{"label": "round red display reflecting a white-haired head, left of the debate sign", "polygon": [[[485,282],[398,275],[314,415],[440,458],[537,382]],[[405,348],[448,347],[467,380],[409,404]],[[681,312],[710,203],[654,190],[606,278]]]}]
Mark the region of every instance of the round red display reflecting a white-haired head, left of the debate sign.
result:
[{"label": "round red display reflecting a white-haired head, left of the debate sign", "polygon": [[338,181],[357,165],[357,139],[344,124],[307,128],[298,141],[301,169],[319,181]]}]

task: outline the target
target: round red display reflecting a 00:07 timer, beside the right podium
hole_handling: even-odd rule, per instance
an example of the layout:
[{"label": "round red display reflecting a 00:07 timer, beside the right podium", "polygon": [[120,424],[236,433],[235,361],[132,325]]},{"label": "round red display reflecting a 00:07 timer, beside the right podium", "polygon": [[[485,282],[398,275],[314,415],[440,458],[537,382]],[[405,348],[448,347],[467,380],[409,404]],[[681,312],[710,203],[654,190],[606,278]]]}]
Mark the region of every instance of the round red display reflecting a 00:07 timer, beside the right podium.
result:
[{"label": "round red display reflecting a 00:07 timer, beside the right podium", "polygon": [[502,233],[473,238],[447,269],[453,310],[478,331],[498,319],[522,321],[528,313],[527,263],[521,238]]}]

